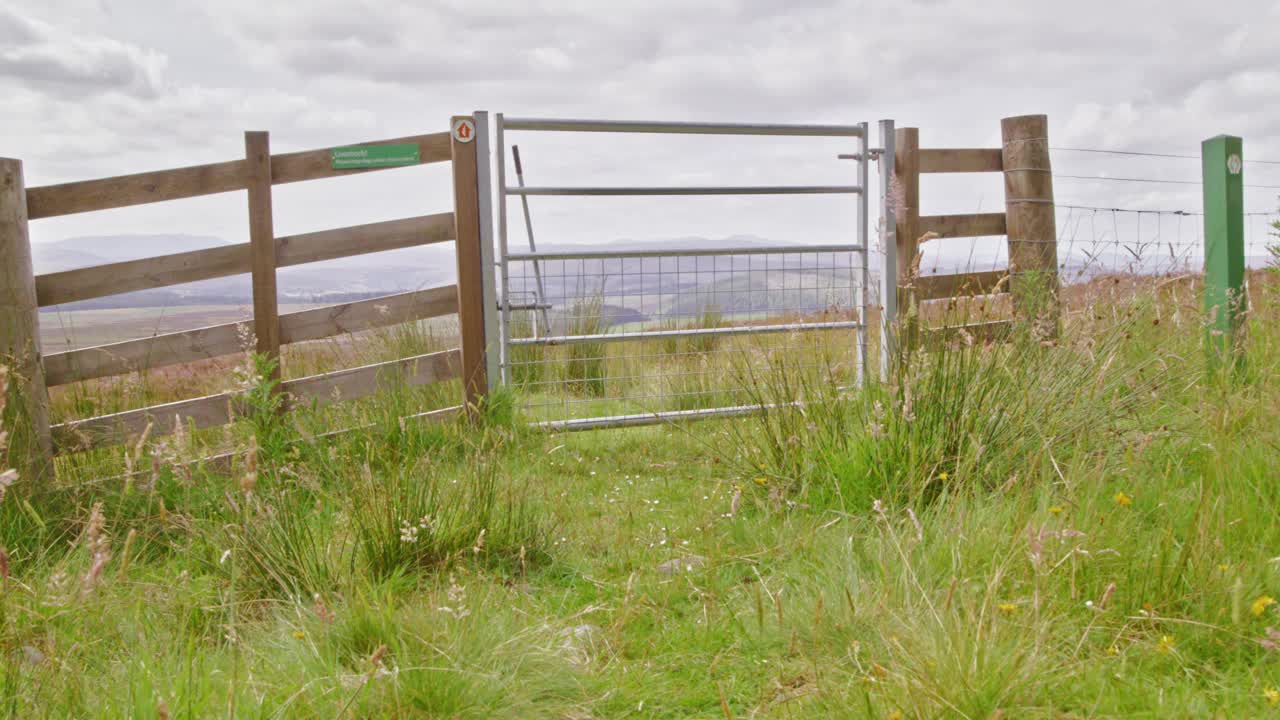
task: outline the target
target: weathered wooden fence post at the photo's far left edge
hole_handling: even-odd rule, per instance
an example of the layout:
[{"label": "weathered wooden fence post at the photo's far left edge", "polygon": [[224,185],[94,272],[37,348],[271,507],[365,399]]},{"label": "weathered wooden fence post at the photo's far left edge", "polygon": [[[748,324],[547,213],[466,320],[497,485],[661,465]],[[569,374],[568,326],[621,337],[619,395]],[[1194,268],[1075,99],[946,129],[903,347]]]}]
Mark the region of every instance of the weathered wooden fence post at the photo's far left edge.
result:
[{"label": "weathered wooden fence post at the photo's far left edge", "polygon": [[22,161],[0,158],[0,360],[6,356],[14,363],[9,379],[17,383],[20,404],[8,409],[19,420],[8,456],[23,478],[49,482],[54,478],[54,455],[49,388],[40,355],[36,275],[27,234],[27,191]]}]

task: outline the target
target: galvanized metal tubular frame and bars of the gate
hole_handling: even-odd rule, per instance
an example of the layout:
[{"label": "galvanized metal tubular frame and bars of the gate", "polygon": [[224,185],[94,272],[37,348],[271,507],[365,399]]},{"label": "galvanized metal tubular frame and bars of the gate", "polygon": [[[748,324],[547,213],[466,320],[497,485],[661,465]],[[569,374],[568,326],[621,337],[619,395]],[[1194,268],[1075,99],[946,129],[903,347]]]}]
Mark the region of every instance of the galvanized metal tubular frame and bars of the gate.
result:
[{"label": "galvanized metal tubular frame and bars of the gate", "polygon": [[[873,149],[869,142],[868,123],[851,126],[820,126],[820,124],[748,124],[748,123],[689,123],[689,122],[632,122],[632,120],[585,120],[585,119],[545,119],[545,118],[504,118],[502,113],[493,118],[492,136],[497,143],[497,178],[493,177],[489,158],[490,147],[490,118],[489,113],[475,113],[476,120],[476,151],[480,158],[477,184],[480,190],[480,219],[481,219],[481,260],[484,266],[497,270],[484,274],[484,315],[485,340],[489,352],[486,352],[486,370],[489,383],[493,386],[499,380],[503,386],[511,384],[511,347],[513,343],[568,343],[568,342],[622,342],[627,340],[649,340],[663,337],[689,337],[700,334],[741,334],[754,332],[790,332],[804,329],[833,329],[850,328],[856,331],[856,372],[859,383],[863,382],[868,368],[868,328],[867,310],[869,305],[869,201],[868,186],[870,176],[870,161],[879,160],[879,247],[882,251],[882,265],[879,278],[881,296],[881,343],[879,343],[879,370],[881,377],[887,377],[893,351],[892,319],[896,316],[897,295],[897,258],[893,220],[893,201],[891,191],[891,178],[893,176],[893,120],[879,122],[881,147]],[[594,187],[594,186],[517,186],[507,184],[507,147],[506,131],[538,131],[538,132],[602,132],[602,133],[671,133],[671,135],[739,135],[739,136],[808,136],[808,137],[856,137],[859,138],[859,152],[842,158],[858,163],[858,184],[847,186],[696,186],[696,187]],[[495,181],[495,182],[494,182]],[[494,187],[495,186],[495,187]],[[493,208],[494,191],[497,195],[497,208]],[[691,196],[691,195],[856,195],[858,196],[858,228],[856,242],[849,245],[827,246],[778,246],[778,247],[750,247],[730,250],[662,250],[662,251],[536,251],[512,252],[507,242],[507,200],[511,196],[522,199],[534,195],[557,196]],[[494,219],[497,218],[497,228]],[[858,320],[831,322],[831,323],[790,323],[774,325],[728,327],[728,328],[699,328],[699,329],[659,329],[626,333],[609,333],[600,336],[554,336],[553,328],[545,328],[547,336],[532,338],[511,337],[511,313],[517,307],[509,295],[509,263],[539,260],[564,260],[564,259],[614,259],[614,258],[643,258],[643,256],[695,256],[695,255],[745,255],[768,252],[851,252],[861,255],[860,297],[858,297]],[[497,258],[495,258],[497,255]],[[500,292],[499,292],[500,286]],[[536,299],[536,304],[543,299]],[[536,333],[535,333],[536,334]],[[759,411],[755,405],[709,407],[699,410],[655,411],[635,415],[614,415],[598,418],[580,418],[570,420],[554,420],[539,423],[552,429],[589,429],[602,427],[625,427],[637,424],[653,424],[676,419],[707,418],[741,415]]]}]

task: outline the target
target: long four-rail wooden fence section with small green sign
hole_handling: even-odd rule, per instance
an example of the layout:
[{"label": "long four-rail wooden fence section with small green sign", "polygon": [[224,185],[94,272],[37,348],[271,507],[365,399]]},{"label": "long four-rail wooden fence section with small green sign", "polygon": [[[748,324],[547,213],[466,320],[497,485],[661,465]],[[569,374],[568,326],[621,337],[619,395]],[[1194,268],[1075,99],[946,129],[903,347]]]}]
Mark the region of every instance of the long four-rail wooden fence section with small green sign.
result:
[{"label": "long four-rail wooden fence section with small green sign", "polygon": [[[465,127],[463,120],[470,118],[454,118],[451,128]],[[49,478],[55,455],[122,443],[148,424],[152,434],[164,434],[173,432],[175,423],[205,428],[232,421],[238,414],[238,392],[50,425],[47,388],[239,352],[242,323],[41,356],[38,316],[38,309],[49,305],[227,275],[252,275],[256,350],[276,360],[282,345],[454,313],[460,316],[460,348],[289,379],[278,386],[287,404],[353,400],[392,379],[425,384],[461,377],[465,396],[458,407],[474,407],[485,387],[485,346],[477,159],[471,140],[466,131],[451,129],[362,143],[416,145],[419,164],[451,163],[452,213],[284,237],[274,233],[274,186],[385,168],[335,169],[333,149],[273,155],[266,132],[244,133],[244,158],[239,160],[31,188],[23,184],[19,160],[0,159],[0,356],[15,363],[23,380],[24,420],[32,429],[31,441],[18,448],[24,473]],[[41,275],[32,272],[29,220],[234,191],[247,195],[248,242]],[[457,243],[457,284],[301,313],[278,311],[278,268],[448,241]]]}]

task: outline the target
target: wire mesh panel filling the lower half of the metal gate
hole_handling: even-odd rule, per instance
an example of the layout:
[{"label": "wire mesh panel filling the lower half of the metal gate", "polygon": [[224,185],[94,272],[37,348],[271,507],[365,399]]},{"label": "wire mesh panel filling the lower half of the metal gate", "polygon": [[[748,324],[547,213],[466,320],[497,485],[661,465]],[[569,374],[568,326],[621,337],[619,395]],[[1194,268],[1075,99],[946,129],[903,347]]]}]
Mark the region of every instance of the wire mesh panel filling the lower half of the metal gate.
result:
[{"label": "wire mesh panel filling the lower half of the metal gate", "polygon": [[799,246],[543,256],[544,314],[534,261],[513,259],[509,378],[531,421],[754,405],[781,363],[791,383],[850,386],[864,263]]}]

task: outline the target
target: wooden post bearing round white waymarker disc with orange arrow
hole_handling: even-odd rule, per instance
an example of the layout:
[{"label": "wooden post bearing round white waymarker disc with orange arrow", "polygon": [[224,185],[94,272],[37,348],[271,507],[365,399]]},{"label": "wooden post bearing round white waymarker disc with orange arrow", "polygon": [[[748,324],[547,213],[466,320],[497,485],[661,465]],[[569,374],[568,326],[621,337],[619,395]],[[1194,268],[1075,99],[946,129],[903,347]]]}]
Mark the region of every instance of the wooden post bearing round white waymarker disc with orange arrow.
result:
[{"label": "wooden post bearing round white waymarker disc with orange arrow", "polygon": [[480,192],[476,126],[468,115],[449,122],[453,152],[453,224],[458,260],[458,325],[462,336],[462,383],[474,413],[489,391],[484,327],[484,266],[480,243]]}]

